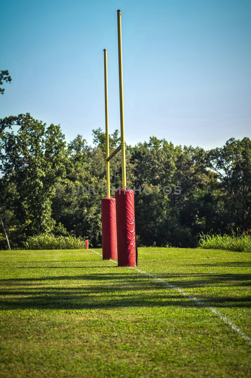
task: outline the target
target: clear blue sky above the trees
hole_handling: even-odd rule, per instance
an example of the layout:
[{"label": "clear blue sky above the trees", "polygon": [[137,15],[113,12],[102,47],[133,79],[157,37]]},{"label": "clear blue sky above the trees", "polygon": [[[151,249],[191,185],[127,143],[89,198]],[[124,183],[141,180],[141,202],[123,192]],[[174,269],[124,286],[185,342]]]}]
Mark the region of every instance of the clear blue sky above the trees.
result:
[{"label": "clear blue sky above the trees", "polygon": [[0,118],[29,112],[67,141],[120,128],[117,9],[122,14],[125,140],[222,146],[251,137],[250,0],[2,0]]}]

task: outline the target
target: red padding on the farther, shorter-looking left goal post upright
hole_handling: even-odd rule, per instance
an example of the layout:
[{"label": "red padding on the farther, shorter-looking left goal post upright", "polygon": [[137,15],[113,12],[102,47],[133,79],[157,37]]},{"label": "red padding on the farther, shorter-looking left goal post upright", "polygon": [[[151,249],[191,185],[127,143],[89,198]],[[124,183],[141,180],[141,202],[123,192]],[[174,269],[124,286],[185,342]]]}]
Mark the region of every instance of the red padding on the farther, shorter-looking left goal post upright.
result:
[{"label": "red padding on the farther, shorter-looking left goal post upright", "polygon": [[102,198],[102,248],[103,260],[118,258],[115,198]]}]

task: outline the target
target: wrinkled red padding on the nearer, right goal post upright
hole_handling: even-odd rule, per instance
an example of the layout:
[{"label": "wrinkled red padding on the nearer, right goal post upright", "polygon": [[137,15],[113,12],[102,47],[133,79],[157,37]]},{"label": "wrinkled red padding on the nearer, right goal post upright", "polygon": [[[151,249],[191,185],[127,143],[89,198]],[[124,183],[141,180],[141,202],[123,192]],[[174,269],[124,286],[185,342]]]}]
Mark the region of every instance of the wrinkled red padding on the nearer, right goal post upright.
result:
[{"label": "wrinkled red padding on the nearer, right goal post upright", "polygon": [[117,190],[115,198],[118,266],[137,266],[134,192],[133,190]]}]

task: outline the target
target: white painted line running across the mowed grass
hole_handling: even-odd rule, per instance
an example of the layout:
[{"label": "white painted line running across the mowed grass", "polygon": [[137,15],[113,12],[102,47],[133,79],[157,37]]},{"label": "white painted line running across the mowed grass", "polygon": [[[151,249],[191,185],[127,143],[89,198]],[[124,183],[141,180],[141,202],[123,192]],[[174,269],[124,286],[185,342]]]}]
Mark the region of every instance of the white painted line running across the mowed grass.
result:
[{"label": "white painted line running across the mowed grass", "polygon": [[[101,256],[102,255],[96,251],[94,251],[94,249],[90,249],[90,251],[93,251],[95,252],[97,255]],[[112,260],[110,259],[109,261],[112,261],[114,263],[117,263],[115,260]],[[139,273],[142,273],[142,274],[146,274],[146,276],[149,276],[151,278],[155,278],[156,280],[160,281],[161,283],[163,283],[164,285],[166,285],[167,287],[170,287],[174,290],[177,290],[180,294],[182,294],[184,297],[188,298],[188,299],[191,299],[191,301],[194,301],[195,303],[205,307],[205,308],[208,308],[213,314],[217,315],[218,318],[220,318],[224,323],[226,323],[233,331],[235,331],[240,337],[242,337],[246,342],[248,342],[248,344],[251,344],[251,339],[245,335],[244,332],[242,332],[242,330],[240,330],[240,328],[238,328],[234,323],[232,323],[225,315],[222,315],[219,311],[215,310],[214,307],[211,307],[209,306],[208,304],[206,304],[205,302],[203,301],[200,301],[199,299],[193,297],[192,295],[186,293],[186,291],[182,290],[181,288],[179,287],[176,287],[174,285],[172,285],[171,283],[168,283],[166,281],[164,281],[163,279],[161,279],[160,277],[157,277],[157,276],[153,276],[153,274],[150,274],[150,273],[147,273],[147,272],[144,272],[143,270],[140,270],[138,268],[136,268],[135,266],[128,266],[128,268],[130,269],[134,269],[136,271],[138,271]]]}]

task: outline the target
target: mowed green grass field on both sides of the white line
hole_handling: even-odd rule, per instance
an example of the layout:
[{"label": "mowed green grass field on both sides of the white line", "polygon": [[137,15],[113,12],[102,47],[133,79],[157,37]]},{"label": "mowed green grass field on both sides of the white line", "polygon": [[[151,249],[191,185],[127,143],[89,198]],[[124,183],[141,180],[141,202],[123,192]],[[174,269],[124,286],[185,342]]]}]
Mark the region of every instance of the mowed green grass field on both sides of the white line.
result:
[{"label": "mowed green grass field on both sides of the white line", "polygon": [[[140,270],[248,337],[250,267],[250,253],[139,248]],[[251,346],[208,308],[90,250],[1,251],[0,272],[1,378],[251,376]]]}]

